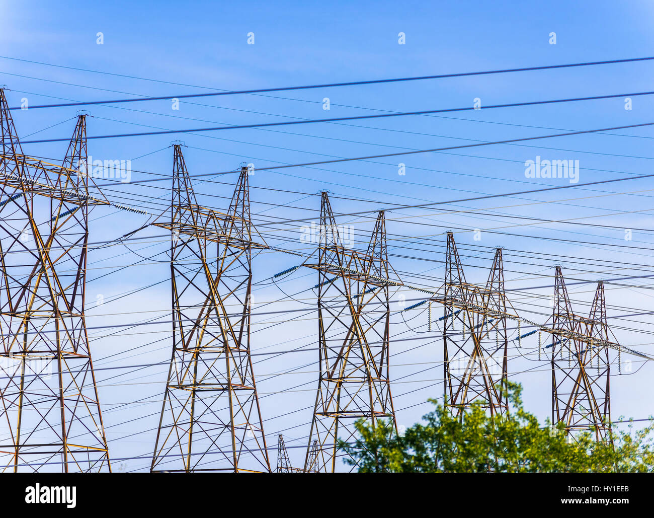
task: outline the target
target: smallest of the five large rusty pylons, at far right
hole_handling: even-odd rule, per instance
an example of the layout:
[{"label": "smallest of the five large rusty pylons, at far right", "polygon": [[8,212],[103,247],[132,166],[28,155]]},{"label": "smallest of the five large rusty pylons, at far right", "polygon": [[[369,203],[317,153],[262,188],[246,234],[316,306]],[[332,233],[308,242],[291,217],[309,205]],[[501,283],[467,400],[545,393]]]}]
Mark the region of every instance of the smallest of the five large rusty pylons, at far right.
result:
[{"label": "smallest of the five large rusty pylons, at far right", "polygon": [[597,284],[589,317],[575,315],[557,266],[552,328],[553,423],[564,423],[572,438],[591,432],[596,441],[611,443],[610,361],[602,341],[613,334],[606,320],[604,283]]}]

